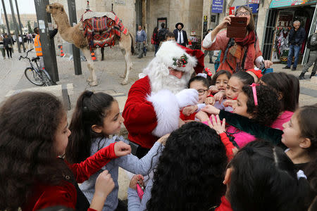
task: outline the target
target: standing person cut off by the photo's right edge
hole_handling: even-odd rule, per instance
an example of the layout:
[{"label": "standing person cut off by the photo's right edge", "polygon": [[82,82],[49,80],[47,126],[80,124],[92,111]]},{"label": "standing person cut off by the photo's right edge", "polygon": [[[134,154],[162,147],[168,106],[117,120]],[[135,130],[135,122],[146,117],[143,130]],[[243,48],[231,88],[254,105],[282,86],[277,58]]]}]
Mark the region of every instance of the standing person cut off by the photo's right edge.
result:
[{"label": "standing person cut off by the photo's right edge", "polygon": [[316,75],[316,70],[317,70],[317,29],[314,34],[311,34],[309,38],[307,39],[307,49],[309,49],[309,61],[304,65],[303,71],[301,75],[299,75],[299,79],[305,79],[304,74],[305,72],[308,71],[308,69],[313,65],[313,70],[311,70],[311,77]]}]

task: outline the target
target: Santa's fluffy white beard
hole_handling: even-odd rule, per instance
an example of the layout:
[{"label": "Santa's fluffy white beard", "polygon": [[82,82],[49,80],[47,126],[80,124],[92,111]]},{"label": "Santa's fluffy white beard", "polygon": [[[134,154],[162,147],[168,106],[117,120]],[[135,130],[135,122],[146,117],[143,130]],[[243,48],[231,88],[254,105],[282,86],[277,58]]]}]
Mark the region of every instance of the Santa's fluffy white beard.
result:
[{"label": "Santa's fluffy white beard", "polygon": [[149,76],[152,94],[164,89],[177,94],[182,89],[187,89],[190,76],[192,75],[192,72],[184,72],[180,79],[174,75],[170,75],[168,66],[164,63],[159,63],[159,60],[156,58],[151,61],[143,72]]}]

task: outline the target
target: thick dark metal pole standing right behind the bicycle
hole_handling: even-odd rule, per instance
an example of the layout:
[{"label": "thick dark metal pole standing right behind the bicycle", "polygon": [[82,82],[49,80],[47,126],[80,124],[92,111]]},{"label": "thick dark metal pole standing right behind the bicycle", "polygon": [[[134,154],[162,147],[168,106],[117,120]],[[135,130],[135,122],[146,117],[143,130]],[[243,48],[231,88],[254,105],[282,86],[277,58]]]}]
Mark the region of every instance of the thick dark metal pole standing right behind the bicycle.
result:
[{"label": "thick dark metal pole standing right behind the bicycle", "polygon": [[46,13],[46,5],[49,5],[49,0],[35,0],[34,4],[35,11],[37,12],[39,40],[41,41],[45,70],[49,72],[49,75],[54,82],[58,82],[59,78],[54,39],[49,39],[49,30],[53,30],[51,27],[51,15]]}]

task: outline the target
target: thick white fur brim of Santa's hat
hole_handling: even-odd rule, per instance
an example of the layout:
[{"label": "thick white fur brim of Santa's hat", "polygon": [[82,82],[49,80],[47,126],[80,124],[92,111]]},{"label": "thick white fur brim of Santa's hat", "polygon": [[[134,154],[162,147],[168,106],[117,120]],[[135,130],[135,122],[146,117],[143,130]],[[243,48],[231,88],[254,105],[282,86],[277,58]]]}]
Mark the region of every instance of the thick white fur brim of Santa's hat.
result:
[{"label": "thick white fur brim of Santa's hat", "polygon": [[[183,54],[188,58],[185,67],[173,65],[173,58],[180,58]],[[175,41],[164,41],[159,51],[156,52],[155,58],[157,58],[160,63],[164,63],[166,66],[182,72],[190,72],[192,68],[197,65],[197,59],[186,53]]]}]

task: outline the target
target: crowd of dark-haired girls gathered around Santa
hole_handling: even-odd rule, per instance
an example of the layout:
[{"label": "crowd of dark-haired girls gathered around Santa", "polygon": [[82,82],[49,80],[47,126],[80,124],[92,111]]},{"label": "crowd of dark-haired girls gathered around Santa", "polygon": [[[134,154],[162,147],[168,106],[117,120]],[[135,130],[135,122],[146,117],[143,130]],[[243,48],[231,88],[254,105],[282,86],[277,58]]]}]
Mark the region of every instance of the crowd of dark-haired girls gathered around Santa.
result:
[{"label": "crowd of dark-haired girls gathered around Santa", "polygon": [[[11,96],[0,108],[0,210],[316,207],[317,104],[298,107],[296,77],[218,70],[188,88],[198,104],[182,108],[182,126],[141,159],[118,136],[124,120],[108,94],[84,91],[69,129],[55,96]],[[128,207],[118,200],[118,167],[137,174]]]}]

